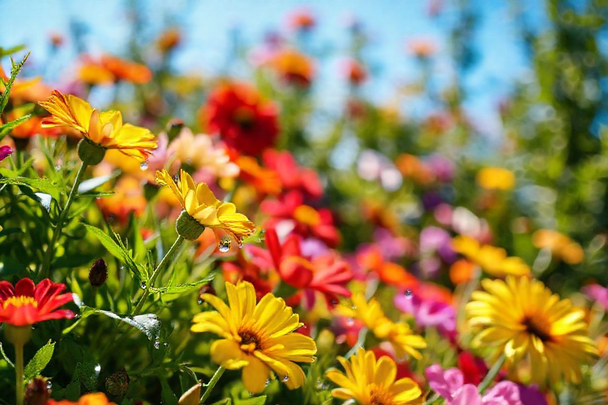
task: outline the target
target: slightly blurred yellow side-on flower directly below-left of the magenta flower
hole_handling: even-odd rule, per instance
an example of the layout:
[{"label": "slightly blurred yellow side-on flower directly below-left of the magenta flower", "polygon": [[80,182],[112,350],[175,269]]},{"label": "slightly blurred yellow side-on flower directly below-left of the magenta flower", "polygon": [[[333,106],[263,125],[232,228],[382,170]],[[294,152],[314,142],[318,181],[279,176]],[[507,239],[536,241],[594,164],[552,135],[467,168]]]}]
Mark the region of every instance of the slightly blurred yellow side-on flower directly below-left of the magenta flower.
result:
[{"label": "slightly blurred yellow side-on flower directly below-left of the magenta flower", "polygon": [[347,316],[363,322],[376,338],[387,341],[393,346],[397,358],[406,355],[416,359],[422,358],[416,349],[426,347],[424,338],[414,335],[407,324],[396,324],[387,318],[375,298],[367,302],[362,293],[356,293],[353,294],[351,301],[353,302],[352,307],[343,304],[337,305],[336,315]]}]

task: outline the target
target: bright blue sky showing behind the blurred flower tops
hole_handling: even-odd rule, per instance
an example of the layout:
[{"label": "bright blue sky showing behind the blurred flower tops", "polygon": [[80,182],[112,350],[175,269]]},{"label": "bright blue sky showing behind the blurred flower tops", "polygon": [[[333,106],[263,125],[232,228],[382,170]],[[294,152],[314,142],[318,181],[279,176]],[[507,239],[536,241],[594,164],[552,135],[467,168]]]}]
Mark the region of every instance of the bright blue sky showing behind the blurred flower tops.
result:
[{"label": "bright blue sky showing behind the blurred flower tops", "polygon": [[[475,35],[480,60],[469,72],[465,82],[469,90],[466,106],[478,125],[489,133],[500,132],[496,105],[508,94],[515,80],[529,75],[523,47],[517,38],[511,10],[504,0],[471,0],[480,15]],[[420,36],[437,41],[440,56],[435,60],[435,78],[449,81],[452,68],[447,58],[449,45],[446,33],[457,18],[452,3],[443,0],[444,12],[438,18],[427,15],[427,0],[176,0],[137,2],[143,5],[144,35],[150,39],[163,26],[177,24],[185,33],[185,43],[174,60],[180,70],[209,75],[224,65],[229,47],[229,32],[238,27],[241,37],[250,44],[259,43],[269,30],[283,29],[285,16],[303,5],[313,10],[318,27],[311,38],[314,49],[334,47],[344,53],[347,45],[345,19],[356,16],[371,36],[366,56],[375,70],[375,77],[365,86],[365,93],[376,101],[389,99],[398,84],[412,80],[420,72],[405,51],[408,39]],[[110,52],[128,57],[130,32],[126,0],[47,0],[24,7],[19,0],[2,1],[3,21],[0,45],[25,44],[32,50],[32,65],[45,72],[47,80],[69,75],[69,61],[74,59],[72,47],[64,47],[60,58],[46,66],[50,32],[68,33],[72,20],[88,27],[85,43],[92,52]],[[525,1],[528,21],[542,29],[544,2]],[[10,18],[7,18],[10,16]],[[145,38],[143,39],[145,41]],[[30,68],[32,69],[32,68]],[[344,83],[337,80],[337,58],[323,60],[319,69],[317,98],[332,105],[343,97]],[[419,106],[424,109],[424,104]],[[412,107],[412,114],[416,114]]]}]

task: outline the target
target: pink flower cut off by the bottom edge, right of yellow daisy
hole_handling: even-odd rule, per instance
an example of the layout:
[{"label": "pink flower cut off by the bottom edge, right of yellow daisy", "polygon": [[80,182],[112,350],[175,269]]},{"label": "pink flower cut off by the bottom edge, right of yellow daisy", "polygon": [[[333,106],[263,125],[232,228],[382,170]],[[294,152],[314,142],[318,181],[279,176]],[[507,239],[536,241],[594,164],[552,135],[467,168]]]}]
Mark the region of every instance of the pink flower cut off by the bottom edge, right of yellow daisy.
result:
[{"label": "pink flower cut off by the bottom edge, right of yellow daisy", "polygon": [[462,372],[444,370],[439,364],[426,369],[429,385],[446,400],[446,405],[523,405],[517,384],[501,381],[482,396],[473,384],[463,384]]}]

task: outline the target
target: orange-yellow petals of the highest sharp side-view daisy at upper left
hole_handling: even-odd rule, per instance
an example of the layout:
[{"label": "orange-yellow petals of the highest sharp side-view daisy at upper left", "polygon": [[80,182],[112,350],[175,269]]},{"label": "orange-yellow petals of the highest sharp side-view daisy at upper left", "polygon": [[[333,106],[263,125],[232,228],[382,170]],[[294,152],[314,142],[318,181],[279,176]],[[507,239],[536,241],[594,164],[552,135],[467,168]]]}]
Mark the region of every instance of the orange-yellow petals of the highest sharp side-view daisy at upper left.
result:
[{"label": "orange-yellow petals of the highest sharp side-view daisy at upper left", "polygon": [[[54,90],[47,101],[40,104],[52,115],[43,121],[44,128],[55,126],[69,126],[79,131],[92,146],[105,149],[117,149],[123,154],[134,157],[139,162],[145,160],[156,149],[156,138],[146,128],[123,124],[120,111],[98,112],[81,98],[65,95]],[[80,148],[78,153],[81,154]],[[97,158],[97,155],[95,156]],[[83,156],[81,156],[83,158]],[[97,165],[103,159],[103,153],[98,161],[83,162]]]}]

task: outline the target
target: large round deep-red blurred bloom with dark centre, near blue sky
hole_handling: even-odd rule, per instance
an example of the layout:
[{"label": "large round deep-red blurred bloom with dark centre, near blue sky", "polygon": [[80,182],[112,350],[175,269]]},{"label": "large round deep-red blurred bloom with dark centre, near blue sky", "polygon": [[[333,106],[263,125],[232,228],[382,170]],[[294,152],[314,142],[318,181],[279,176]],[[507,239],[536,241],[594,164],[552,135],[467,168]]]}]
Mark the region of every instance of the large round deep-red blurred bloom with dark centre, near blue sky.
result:
[{"label": "large round deep-red blurred bloom with dark centre, near blue sky", "polygon": [[277,138],[277,107],[263,101],[249,84],[219,85],[209,95],[202,115],[210,132],[219,133],[226,145],[245,154],[260,154]]}]

